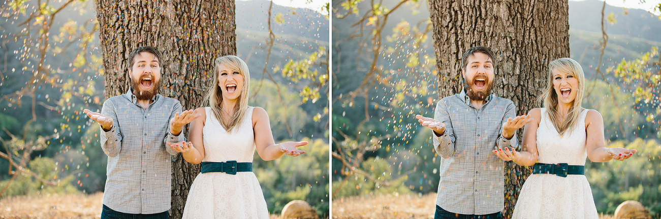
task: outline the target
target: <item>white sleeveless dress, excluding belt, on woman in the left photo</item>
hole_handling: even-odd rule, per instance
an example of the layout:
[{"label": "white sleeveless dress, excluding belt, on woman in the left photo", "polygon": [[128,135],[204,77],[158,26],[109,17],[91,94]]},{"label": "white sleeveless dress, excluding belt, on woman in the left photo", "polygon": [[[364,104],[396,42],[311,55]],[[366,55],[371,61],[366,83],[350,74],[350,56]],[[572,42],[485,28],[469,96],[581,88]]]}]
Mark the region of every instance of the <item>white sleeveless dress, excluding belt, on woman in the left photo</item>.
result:
[{"label": "white sleeveless dress, excluding belt, on woman in the left photo", "polygon": [[[202,161],[253,162],[253,107],[232,133],[223,129],[211,108],[205,111]],[[190,187],[182,218],[268,218],[268,208],[253,172],[200,173]]]}]

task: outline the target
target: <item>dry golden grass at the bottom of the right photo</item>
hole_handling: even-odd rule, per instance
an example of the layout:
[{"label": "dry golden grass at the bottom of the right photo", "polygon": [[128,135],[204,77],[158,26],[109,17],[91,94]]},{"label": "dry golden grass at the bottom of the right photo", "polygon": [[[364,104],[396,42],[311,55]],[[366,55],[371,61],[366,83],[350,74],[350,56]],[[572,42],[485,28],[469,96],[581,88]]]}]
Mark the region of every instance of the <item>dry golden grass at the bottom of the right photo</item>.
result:
[{"label": "dry golden grass at the bottom of the right photo", "polygon": [[[436,193],[333,199],[332,218],[434,218]],[[599,219],[613,219],[601,215]]]}]

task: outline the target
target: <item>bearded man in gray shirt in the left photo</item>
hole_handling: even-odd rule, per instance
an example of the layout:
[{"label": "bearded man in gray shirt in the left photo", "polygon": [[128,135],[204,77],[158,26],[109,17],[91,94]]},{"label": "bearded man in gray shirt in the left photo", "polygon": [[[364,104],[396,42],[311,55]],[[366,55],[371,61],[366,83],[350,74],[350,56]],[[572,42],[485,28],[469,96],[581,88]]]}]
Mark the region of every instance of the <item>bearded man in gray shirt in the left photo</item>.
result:
[{"label": "bearded man in gray shirt in the left photo", "polygon": [[200,115],[181,112],[173,98],[157,94],[161,53],[149,46],[129,55],[131,88],[103,103],[101,113],[87,113],[101,126],[101,148],[108,155],[101,218],[168,218],[171,148],[183,142],[184,125]]}]

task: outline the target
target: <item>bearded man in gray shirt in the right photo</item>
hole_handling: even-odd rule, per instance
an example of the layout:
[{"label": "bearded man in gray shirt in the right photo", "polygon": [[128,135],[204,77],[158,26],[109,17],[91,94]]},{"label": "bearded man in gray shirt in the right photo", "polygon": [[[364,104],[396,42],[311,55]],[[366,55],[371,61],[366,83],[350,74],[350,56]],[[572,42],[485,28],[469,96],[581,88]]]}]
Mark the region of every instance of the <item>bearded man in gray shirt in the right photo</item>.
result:
[{"label": "bearded man in gray shirt in the right photo", "polygon": [[516,129],[531,120],[515,117],[511,100],[491,94],[497,65],[488,47],[468,49],[461,65],[461,94],[440,100],[434,119],[416,115],[434,131],[442,156],[434,218],[502,218],[503,161],[492,150],[517,148]]}]

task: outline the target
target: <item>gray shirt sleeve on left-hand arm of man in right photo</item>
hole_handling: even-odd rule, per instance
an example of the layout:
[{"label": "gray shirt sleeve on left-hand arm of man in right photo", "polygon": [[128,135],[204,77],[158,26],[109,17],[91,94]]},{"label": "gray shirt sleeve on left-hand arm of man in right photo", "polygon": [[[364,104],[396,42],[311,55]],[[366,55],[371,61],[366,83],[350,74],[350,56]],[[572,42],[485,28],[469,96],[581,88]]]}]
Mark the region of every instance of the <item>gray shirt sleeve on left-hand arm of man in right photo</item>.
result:
[{"label": "gray shirt sleeve on left-hand arm of man in right photo", "polygon": [[446,102],[440,100],[438,104],[436,104],[436,112],[434,113],[434,119],[445,124],[445,132],[434,132],[433,137],[436,154],[443,158],[449,158],[455,152],[455,136],[448,110]]}]

